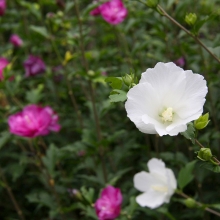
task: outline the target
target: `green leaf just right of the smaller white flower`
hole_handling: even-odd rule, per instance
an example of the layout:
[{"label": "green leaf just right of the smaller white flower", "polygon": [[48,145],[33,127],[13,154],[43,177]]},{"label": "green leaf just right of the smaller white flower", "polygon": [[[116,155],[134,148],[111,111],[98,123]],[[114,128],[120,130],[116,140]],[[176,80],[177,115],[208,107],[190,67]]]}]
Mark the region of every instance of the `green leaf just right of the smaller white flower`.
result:
[{"label": "green leaf just right of the smaller white flower", "polygon": [[192,171],[194,169],[194,166],[195,166],[195,163],[197,161],[194,160],[188,164],[186,164],[185,167],[183,167],[180,172],[179,172],[179,175],[178,175],[178,185],[180,187],[180,189],[182,190],[188,183],[190,183],[194,176],[192,175]]}]

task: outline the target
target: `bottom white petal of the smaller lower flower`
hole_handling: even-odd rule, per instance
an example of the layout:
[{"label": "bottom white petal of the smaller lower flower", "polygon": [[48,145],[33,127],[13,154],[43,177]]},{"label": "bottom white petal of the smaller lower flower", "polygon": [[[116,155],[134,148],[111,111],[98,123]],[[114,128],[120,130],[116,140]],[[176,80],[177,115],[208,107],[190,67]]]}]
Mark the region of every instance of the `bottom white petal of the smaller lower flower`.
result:
[{"label": "bottom white petal of the smaller lower flower", "polygon": [[155,209],[161,206],[166,198],[167,193],[149,190],[136,197],[136,202],[142,207],[149,207]]}]

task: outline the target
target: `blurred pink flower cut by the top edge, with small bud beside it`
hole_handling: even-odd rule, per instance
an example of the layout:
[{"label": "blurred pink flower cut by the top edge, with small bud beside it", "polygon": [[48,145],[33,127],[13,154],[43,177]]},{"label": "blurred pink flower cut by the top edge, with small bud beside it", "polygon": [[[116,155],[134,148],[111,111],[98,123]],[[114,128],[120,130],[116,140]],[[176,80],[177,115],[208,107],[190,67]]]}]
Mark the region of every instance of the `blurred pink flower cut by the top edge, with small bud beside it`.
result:
[{"label": "blurred pink flower cut by the top edge, with small bud beside it", "polygon": [[127,13],[122,0],[110,0],[90,12],[93,16],[101,14],[103,19],[112,25],[124,21]]}]

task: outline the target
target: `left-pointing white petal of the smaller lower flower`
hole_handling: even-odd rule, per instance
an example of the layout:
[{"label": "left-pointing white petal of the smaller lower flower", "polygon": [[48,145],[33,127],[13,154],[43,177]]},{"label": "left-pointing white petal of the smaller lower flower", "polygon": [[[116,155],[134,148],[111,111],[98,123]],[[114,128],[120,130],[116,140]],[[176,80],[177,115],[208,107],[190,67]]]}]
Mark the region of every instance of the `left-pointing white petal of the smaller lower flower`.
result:
[{"label": "left-pointing white petal of the smaller lower flower", "polygon": [[134,187],[141,192],[148,191],[151,186],[155,185],[156,183],[157,180],[155,180],[151,174],[145,171],[137,173],[134,176]]}]

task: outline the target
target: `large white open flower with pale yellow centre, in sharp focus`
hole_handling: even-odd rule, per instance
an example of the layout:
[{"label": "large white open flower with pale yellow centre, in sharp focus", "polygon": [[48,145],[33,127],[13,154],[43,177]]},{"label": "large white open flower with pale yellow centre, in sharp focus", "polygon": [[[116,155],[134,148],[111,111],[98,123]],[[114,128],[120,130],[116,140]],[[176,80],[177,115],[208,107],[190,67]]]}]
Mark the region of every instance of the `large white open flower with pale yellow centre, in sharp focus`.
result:
[{"label": "large white open flower with pale yellow centre, in sharp focus", "polygon": [[129,90],[125,108],[143,133],[177,135],[199,118],[208,92],[204,77],[174,63],[157,63]]}]

